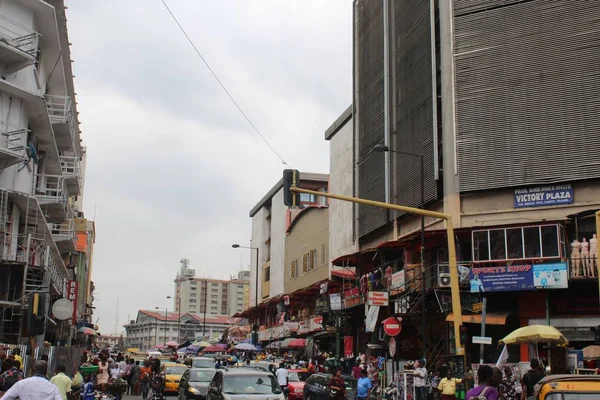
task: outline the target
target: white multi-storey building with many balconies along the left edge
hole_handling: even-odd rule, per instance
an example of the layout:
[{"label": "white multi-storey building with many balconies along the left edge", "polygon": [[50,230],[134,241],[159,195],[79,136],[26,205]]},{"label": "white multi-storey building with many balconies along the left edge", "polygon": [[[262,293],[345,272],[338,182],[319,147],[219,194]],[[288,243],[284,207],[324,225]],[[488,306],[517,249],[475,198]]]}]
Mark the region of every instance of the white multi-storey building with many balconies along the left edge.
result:
[{"label": "white multi-storey building with many balconies along the left edge", "polygon": [[[31,293],[48,313],[73,279],[83,176],[71,63],[63,0],[0,0],[0,342],[27,340]],[[46,339],[68,324],[48,318]]]}]

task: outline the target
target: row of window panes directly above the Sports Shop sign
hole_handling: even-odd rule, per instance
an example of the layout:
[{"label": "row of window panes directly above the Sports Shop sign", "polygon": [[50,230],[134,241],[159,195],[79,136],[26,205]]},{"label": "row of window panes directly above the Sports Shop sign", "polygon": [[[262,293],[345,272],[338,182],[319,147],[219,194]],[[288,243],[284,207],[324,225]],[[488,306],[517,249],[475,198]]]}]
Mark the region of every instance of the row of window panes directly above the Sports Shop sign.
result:
[{"label": "row of window panes directly above the Sports Shop sign", "polygon": [[558,225],[473,231],[473,261],[560,257]]}]

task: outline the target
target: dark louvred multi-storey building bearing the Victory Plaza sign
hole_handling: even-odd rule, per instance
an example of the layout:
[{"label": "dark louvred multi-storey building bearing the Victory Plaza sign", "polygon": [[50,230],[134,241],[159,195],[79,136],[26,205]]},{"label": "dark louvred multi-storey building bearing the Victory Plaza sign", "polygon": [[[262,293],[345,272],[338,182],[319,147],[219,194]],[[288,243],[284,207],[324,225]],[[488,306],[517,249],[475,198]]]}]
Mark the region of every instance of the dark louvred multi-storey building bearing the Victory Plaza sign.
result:
[{"label": "dark louvred multi-storey building bearing the Victory Plaza sign", "polygon": [[[590,256],[600,209],[600,85],[590,77],[600,64],[589,44],[600,39],[600,22],[589,16],[600,4],[355,0],[354,8],[354,141],[339,155],[352,163],[353,192],[452,216],[467,283],[462,308],[481,302],[468,289],[469,278],[481,281],[474,288],[485,290],[494,342],[544,323],[575,348],[590,344],[600,312]],[[350,221],[332,220],[330,232],[353,224],[360,251],[334,264],[358,277],[388,267],[403,274],[405,292],[379,315],[403,317],[397,357],[452,353],[452,336],[441,334],[449,323],[480,334],[480,314],[448,314],[445,223],[424,219],[422,247],[420,217],[355,209]],[[345,312],[364,312],[356,307],[364,298],[349,300]],[[488,346],[486,360],[497,359],[495,349]],[[526,347],[510,350],[511,361],[528,358]]]}]

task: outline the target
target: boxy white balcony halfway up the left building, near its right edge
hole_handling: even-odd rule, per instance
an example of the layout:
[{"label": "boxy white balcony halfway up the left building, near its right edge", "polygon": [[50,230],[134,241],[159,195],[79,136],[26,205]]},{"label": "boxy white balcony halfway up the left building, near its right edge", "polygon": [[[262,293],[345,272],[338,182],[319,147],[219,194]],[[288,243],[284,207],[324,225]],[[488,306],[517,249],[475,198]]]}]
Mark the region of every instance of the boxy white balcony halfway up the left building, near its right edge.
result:
[{"label": "boxy white balcony halfway up the left building, near its right edge", "polygon": [[45,211],[47,222],[62,222],[69,217],[67,187],[62,175],[38,174],[35,197]]}]

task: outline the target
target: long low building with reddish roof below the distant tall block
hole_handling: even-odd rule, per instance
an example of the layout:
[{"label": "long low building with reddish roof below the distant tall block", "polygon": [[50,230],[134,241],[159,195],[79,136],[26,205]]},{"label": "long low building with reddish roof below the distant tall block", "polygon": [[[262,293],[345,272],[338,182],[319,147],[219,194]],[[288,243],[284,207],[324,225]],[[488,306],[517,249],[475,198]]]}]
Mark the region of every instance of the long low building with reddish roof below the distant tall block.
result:
[{"label": "long low building with reddish roof below the distant tall block", "polygon": [[140,310],[124,325],[126,346],[148,350],[175,341],[219,340],[239,319],[226,315],[180,314],[173,311]]}]

